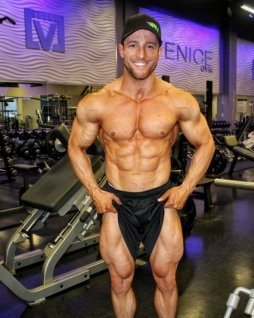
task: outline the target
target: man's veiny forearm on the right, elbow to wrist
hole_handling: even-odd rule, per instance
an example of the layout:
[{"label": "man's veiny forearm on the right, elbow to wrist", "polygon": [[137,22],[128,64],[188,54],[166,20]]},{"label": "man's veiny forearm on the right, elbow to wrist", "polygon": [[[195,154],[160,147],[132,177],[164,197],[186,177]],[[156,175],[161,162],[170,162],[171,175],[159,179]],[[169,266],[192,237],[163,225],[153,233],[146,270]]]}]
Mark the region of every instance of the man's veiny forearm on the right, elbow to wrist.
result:
[{"label": "man's veiny forearm on the right, elbow to wrist", "polygon": [[181,185],[181,188],[188,192],[188,195],[191,194],[198,181],[204,176],[208,169],[214,154],[214,149],[214,142],[210,139],[207,143],[197,148],[192,156],[190,168]]}]

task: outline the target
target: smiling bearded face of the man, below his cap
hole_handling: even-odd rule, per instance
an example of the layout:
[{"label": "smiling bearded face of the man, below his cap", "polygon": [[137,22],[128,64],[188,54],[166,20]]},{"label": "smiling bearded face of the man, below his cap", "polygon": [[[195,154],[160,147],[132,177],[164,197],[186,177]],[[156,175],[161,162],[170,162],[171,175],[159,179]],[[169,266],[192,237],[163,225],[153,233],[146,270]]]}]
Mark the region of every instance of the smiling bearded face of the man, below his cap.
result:
[{"label": "smiling bearded face of the man, below his cap", "polygon": [[127,72],[138,80],[147,79],[155,70],[161,51],[156,35],[144,29],[137,30],[124,39],[124,48],[119,44],[119,52],[124,58]]}]

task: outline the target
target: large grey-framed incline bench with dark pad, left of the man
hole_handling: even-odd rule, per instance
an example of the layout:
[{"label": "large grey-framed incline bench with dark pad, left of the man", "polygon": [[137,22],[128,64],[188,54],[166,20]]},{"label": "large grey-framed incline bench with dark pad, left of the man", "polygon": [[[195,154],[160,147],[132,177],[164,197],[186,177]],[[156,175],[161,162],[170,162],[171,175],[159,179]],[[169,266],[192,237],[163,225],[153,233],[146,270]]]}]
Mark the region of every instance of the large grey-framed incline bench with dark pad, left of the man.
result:
[{"label": "large grey-framed incline bench with dark pad, left of the man", "polygon": [[[61,125],[62,126],[62,125]],[[60,127],[67,136],[63,145],[67,147],[67,128]],[[57,132],[57,134],[59,131]],[[57,137],[62,142],[61,134]],[[90,156],[95,179],[101,187],[106,182],[104,163],[98,156]],[[19,298],[30,305],[40,303],[45,297],[68,287],[84,282],[91,274],[107,268],[103,260],[82,266],[70,272],[53,277],[54,268],[65,252],[72,252],[84,246],[98,243],[99,233],[84,238],[91,225],[95,224],[97,212],[85,188],[75,175],[68,156],[64,156],[45,173],[22,196],[23,203],[34,208],[9,240],[4,260],[0,264],[0,281]],[[25,253],[15,257],[18,245],[30,238],[30,231],[43,227],[45,220],[53,213],[65,215],[71,210],[70,220],[64,229],[47,244],[44,249]],[[56,234],[55,234],[56,235]],[[41,285],[26,289],[15,277],[17,268],[31,265],[45,259],[41,271]]]}]

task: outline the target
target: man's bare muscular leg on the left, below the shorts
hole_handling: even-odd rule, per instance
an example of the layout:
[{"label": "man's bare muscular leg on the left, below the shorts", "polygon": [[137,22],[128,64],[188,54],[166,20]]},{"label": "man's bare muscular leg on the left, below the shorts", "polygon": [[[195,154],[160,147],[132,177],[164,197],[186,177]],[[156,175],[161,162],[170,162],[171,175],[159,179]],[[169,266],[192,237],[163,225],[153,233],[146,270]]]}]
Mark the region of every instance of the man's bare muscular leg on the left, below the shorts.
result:
[{"label": "man's bare muscular leg on the left, below the shorts", "polygon": [[111,277],[111,298],[116,317],[132,318],[136,300],[130,287],[135,263],[119,229],[117,214],[104,213],[100,252]]}]

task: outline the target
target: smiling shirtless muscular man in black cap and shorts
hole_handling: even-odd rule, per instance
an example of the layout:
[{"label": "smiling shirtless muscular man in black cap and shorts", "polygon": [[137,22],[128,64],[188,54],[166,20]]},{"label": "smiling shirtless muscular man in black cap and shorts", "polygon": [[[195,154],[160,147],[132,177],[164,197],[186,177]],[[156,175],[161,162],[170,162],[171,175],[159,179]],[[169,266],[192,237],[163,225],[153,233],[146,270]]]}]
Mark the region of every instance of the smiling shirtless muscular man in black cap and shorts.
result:
[{"label": "smiling shirtless muscular man in black cap and shorts", "polygon": [[[100,252],[110,271],[116,317],[133,317],[136,310],[131,282],[141,240],[157,284],[158,316],[172,318],[175,273],[183,254],[177,209],[207,170],[214,142],[196,100],[155,76],[162,52],[155,19],[131,17],[118,48],[124,75],[80,101],[68,154],[101,221]],[[170,153],[179,127],[197,150],[184,182],[175,187],[169,180]],[[103,189],[86,155],[97,135],[105,148]]]}]

